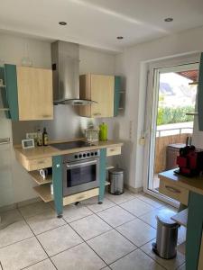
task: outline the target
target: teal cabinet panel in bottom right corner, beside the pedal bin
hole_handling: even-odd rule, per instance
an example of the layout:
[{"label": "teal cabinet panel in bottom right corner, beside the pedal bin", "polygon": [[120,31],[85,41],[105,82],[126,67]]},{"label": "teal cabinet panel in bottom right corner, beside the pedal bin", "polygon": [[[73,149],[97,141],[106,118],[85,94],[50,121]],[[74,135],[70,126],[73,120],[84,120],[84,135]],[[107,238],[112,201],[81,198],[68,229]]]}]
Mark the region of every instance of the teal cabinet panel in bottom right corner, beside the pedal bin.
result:
[{"label": "teal cabinet panel in bottom right corner, beside the pedal bin", "polygon": [[186,241],[186,270],[198,270],[203,229],[203,195],[189,193],[189,215]]}]

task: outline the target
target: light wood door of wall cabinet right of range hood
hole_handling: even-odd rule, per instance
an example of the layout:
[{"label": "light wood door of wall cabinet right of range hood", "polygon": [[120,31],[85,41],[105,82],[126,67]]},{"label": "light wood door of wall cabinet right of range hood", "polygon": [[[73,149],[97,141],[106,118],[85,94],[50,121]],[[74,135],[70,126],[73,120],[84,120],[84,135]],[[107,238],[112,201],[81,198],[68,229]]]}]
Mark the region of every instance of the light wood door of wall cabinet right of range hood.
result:
[{"label": "light wood door of wall cabinet right of range hood", "polygon": [[91,117],[114,116],[115,77],[91,75]]}]

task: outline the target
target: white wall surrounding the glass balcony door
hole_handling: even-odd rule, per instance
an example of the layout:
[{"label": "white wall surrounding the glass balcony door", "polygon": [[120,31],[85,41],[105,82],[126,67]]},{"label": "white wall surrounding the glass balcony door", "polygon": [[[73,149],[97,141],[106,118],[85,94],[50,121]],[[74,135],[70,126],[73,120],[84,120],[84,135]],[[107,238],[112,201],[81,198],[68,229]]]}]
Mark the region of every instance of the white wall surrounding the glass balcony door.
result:
[{"label": "white wall surrounding the glass balcony door", "polygon": [[[143,131],[145,114],[145,87],[143,63],[159,58],[169,58],[181,54],[203,51],[203,27],[180,32],[171,36],[152,40],[137,46],[126,48],[124,54],[115,59],[115,72],[126,76],[125,115],[116,119],[120,138],[124,139],[124,157],[118,160],[127,172],[128,184],[134,188],[143,186],[143,146],[138,139]],[[129,139],[130,121],[133,121],[133,139]],[[114,128],[114,123],[112,123]],[[199,132],[198,141],[202,141]]]}]

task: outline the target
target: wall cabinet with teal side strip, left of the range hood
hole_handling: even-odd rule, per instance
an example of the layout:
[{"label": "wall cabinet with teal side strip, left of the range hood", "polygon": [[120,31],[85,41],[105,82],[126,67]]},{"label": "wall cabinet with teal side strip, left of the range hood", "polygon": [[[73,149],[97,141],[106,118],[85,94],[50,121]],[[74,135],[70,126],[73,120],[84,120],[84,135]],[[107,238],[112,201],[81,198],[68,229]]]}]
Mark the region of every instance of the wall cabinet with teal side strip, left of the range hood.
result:
[{"label": "wall cabinet with teal side strip, left of the range hood", "polygon": [[5,87],[12,120],[53,119],[50,69],[5,64]]}]

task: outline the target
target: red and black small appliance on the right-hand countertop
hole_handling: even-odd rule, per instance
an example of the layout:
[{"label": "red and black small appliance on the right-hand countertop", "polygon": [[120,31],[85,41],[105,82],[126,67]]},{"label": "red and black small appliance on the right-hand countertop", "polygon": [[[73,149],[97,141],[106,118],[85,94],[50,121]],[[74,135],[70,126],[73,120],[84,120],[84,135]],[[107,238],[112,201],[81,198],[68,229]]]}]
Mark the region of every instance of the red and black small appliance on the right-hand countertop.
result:
[{"label": "red and black small appliance on the right-hand countertop", "polygon": [[177,164],[179,169],[175,173],[190,177],[199,175],[203,172],[203,150],[193,145],[180,148]]}]

